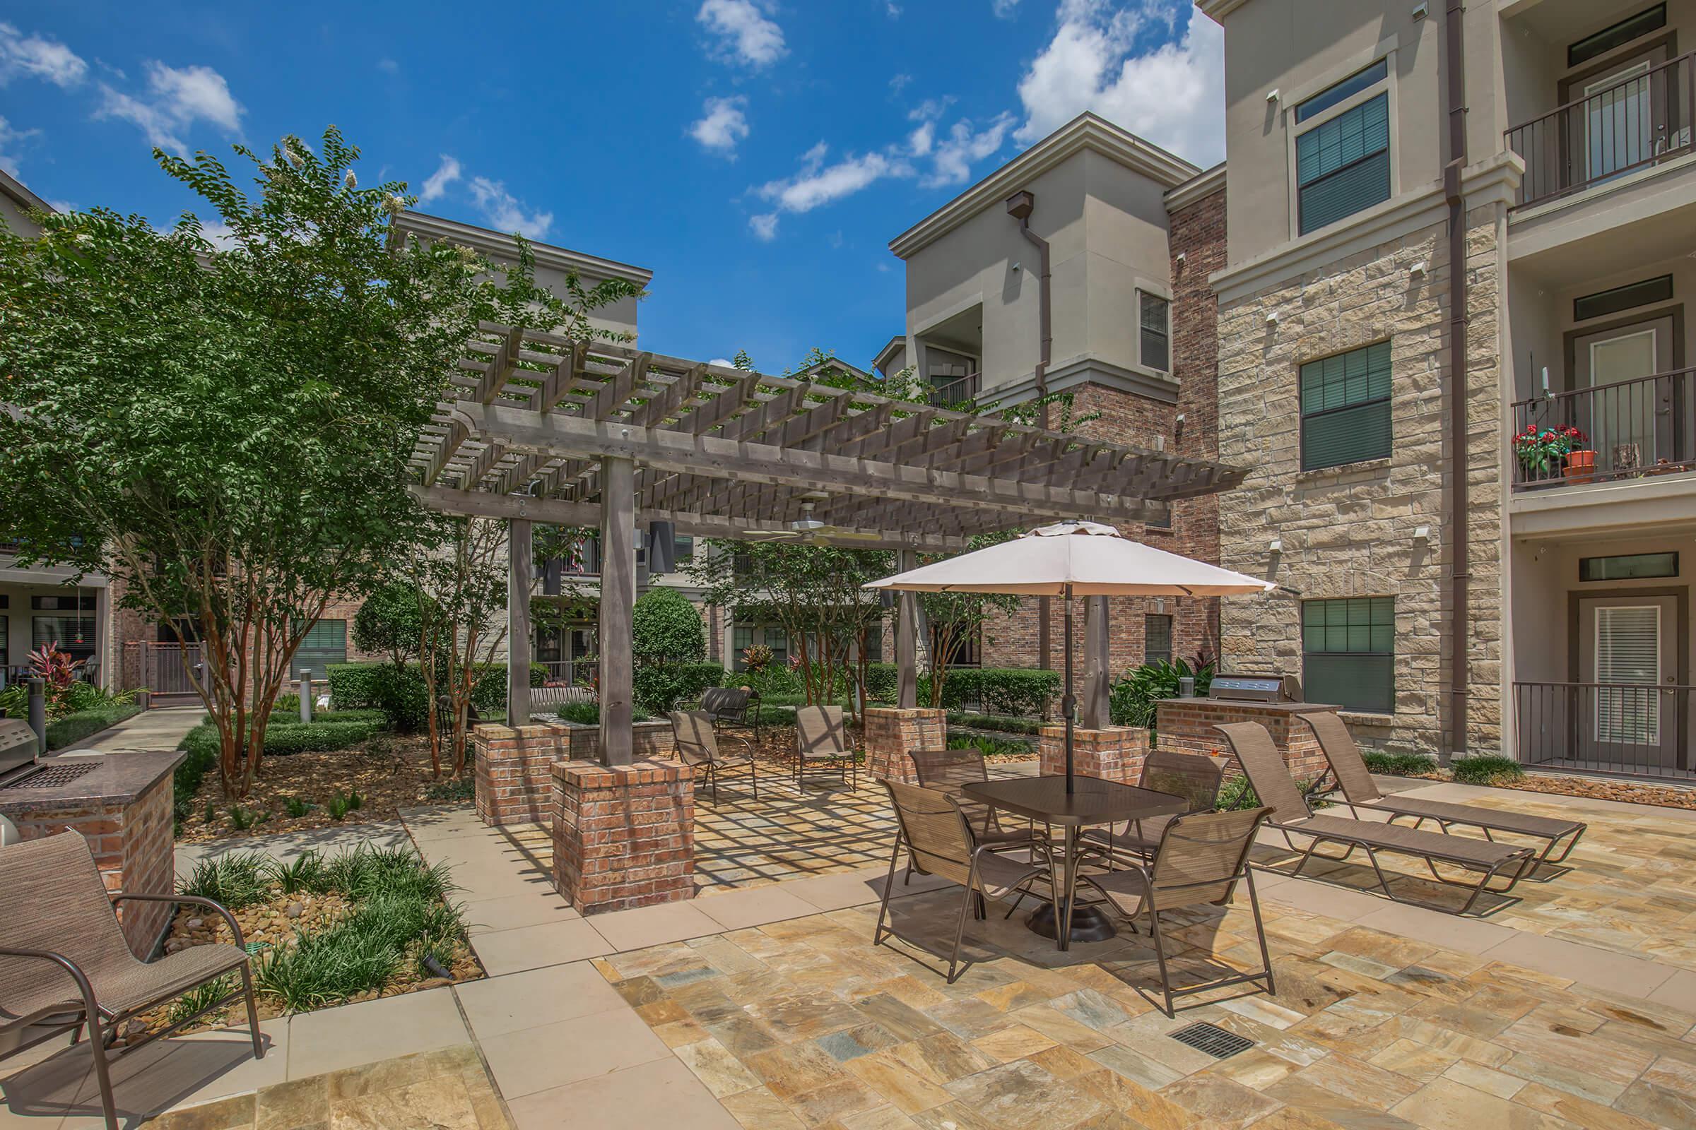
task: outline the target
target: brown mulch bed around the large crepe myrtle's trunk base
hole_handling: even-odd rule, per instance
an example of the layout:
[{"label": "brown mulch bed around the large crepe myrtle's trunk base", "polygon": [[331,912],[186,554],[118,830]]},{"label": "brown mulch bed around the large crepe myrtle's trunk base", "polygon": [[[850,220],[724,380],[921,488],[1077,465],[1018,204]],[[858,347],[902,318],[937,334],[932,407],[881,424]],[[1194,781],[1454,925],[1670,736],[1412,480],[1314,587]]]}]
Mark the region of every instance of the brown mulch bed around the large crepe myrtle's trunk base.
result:
[{"label": "brown mulch bed around the large crepe myrtle's trunk base", "polygon": [[[470,769],[463,778],[465,791],[460,795],[451,795],[444,788],[453,783],[446,773],[439,781],[432,778],[427,737],[378,734],[360,745],[327,754],[271,756],[259,762],[253,788],[239,801],[226,800],[217,774],[209,773],[195,793],[193,811],[183,820],[176,839],[185,844],[204,844],[307,832],[393,820],[402,808],[417,805],[463,805],[471,796],[468,774]],[[363,803],[338,822],[331,818],[326,803],[348,789],[356,791]],[[305,801],[312,808],[304,817],[290,817],[288,798]],[[237,828],[231,818],[231,810],[236,806],[259,815],[258,823]]]}]

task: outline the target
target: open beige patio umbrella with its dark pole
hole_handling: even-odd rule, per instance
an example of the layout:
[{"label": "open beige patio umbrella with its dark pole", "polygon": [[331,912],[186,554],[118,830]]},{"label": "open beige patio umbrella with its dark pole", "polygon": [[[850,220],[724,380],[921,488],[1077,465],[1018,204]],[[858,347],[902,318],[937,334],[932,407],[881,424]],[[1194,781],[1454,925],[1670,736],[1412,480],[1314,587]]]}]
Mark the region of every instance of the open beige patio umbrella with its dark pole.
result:
[{"label": "open beige patio umbrella with its dark pole", "polygon": [[867,588],[912,593],[1018,593],[1065,598],[1065,788],[1072,791],[1072,598],[1231,596],[1277,588],[1243,573],[1169,554],[1099,522],[1057,522],[999,546],[907,569]]}]

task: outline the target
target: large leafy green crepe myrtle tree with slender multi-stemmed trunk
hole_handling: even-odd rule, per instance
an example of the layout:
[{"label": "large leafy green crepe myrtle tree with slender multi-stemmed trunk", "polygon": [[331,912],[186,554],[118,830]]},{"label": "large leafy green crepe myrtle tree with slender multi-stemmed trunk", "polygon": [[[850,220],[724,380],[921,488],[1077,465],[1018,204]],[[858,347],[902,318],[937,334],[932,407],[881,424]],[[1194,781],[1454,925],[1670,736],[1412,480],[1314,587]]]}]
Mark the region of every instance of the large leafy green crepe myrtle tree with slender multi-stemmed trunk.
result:
[{"label": "large leafy green crepe myrtle tree with slender multi-stemmed trunk", "polygon": [[358,186],[334,127],[236,154],[251,186],[154,149],[227,230],[215,242],[193,213],[0,225],[0,530],[27,562],[109,574],[122,607],[198,645],[187,676],[231,796],[326,603],[375,588],[426,527],[407,461],[480,324],[587,325],[534,285],[522,242],[512,266],[390,247],[414,198]]}]

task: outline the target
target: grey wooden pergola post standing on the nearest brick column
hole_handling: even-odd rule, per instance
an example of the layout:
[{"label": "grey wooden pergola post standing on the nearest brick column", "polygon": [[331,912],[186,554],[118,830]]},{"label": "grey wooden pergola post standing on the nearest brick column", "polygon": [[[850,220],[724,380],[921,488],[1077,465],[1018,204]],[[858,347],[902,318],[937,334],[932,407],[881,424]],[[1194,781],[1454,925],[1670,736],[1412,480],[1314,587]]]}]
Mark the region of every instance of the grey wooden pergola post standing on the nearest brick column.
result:
[{"label": "grey wooden pergola post standing on the nearest brick column", "polygon": [[600,461],[600,759],[628,766],[631,735],[631,608],[636,603],[636,463]]}]

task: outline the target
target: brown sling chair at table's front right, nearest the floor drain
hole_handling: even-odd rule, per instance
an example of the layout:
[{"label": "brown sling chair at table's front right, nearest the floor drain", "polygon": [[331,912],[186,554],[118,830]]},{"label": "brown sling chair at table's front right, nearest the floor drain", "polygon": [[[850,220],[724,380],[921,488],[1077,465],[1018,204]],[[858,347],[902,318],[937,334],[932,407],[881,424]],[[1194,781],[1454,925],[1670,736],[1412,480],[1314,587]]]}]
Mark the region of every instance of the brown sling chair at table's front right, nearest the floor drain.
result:
[{"label": "brown sling chair at table's front right, nearest the floor drain", "polygon": [[[1267,993],[1277,993],[1272,983],[1272,956],[1267,952],[1267,932],[1260,922],[1260,900],[1255,896],[1255,878],[1248,869],[1248,849],[1269,808],[1236,811],[1201,811],[1170,818],[1160,832],[1160,842],[1148,866],[1133,864],[1124,871],[1085,874],[1084,883],[1101,891],[1107,903],[1131,920],[1148,911],[1148,932],[1153,935],[1155,959],[1160,962],[1162,1005],[1167,1016],[1175,1015],[1172,998],[1221,989],[1228,984],[1265,983]],[[1172,988],[1172,974],[1165,964],[1165,939],[1160,933],[1160,915],[1184,906],[1231,901],[1238,883],[1248,886],[1248,908],[1255,918],[1255,937],[1260,942],[1260,971],[1214,978],[1202,984]],[[1138,989],[1140,991],[1140,989]]]}]

